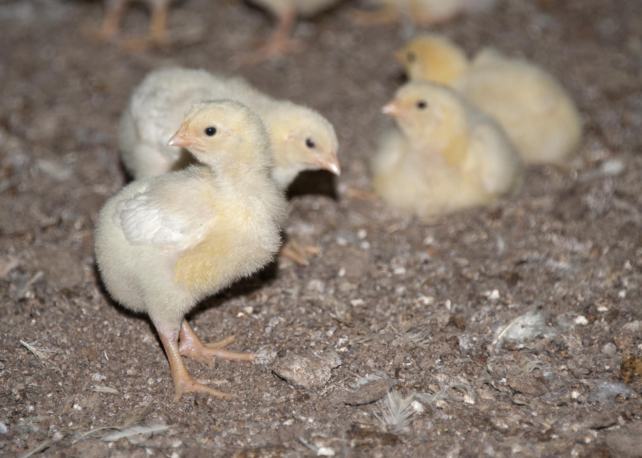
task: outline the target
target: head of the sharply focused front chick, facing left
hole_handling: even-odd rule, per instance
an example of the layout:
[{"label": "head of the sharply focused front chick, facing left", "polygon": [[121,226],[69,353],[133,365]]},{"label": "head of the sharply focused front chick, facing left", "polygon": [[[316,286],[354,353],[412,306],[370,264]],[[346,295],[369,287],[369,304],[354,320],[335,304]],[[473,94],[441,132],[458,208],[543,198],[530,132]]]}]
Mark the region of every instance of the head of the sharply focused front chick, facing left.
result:
[{"label": "head of the sharply focused front chick, facing left", "polygon": [[269,166],[271,140],[265,123],[250,107],[233,100],[202,101],[191,106],[168,146],[189,149],[200,162]]}]

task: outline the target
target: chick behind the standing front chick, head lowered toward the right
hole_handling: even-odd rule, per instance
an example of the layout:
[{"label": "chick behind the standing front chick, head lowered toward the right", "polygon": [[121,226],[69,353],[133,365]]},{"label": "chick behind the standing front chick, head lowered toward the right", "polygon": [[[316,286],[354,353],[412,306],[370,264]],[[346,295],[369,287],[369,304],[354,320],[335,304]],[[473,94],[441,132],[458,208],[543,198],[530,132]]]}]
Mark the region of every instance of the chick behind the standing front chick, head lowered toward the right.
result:
[{"label": "chick behind the standing front chick, head lowered toward the right", "polygon": [[[191,156],[187,150],[167,146],[167,139],[180,125],[189,106],[218,98],[247,103],[263,117],[274,146],[272,173],[281,189],[287,189],[304,170],[341,173],[334,128],[315,110],[272,99],[242,78],[222,78],[203,70],[179,67],[151,72],[134,90],[119,128],[119,146],[126,169],[139,179],[188,164]],[[305,266],[307,255],[318,252],[317,247],[289,241],[282,254]]]}]

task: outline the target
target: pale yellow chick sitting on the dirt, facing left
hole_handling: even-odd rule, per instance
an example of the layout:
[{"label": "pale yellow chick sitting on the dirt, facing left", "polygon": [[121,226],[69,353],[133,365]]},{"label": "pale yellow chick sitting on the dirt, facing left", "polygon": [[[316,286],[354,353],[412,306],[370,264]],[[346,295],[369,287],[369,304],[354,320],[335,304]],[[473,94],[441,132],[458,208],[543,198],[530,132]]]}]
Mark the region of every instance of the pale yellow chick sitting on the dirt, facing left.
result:
[{"label": "pale yellow chick sitting on the dirt, facing left", "polygon": [[413,81],[382,111],[399,129],[379,145],[373,185],[395,207],[431,216],[487,205],[518,189],[516,150],[490,117],[455,91]]}]

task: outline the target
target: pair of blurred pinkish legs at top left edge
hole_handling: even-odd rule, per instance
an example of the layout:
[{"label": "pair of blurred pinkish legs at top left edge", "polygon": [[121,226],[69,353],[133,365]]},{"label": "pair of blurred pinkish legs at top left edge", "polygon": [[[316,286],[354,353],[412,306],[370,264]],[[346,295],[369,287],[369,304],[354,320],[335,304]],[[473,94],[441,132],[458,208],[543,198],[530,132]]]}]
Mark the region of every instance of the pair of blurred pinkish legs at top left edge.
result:
[{"label": "pair of blurred pinkish legs at top left edge", "polygon": [[[143,0],[152,10],[150,31],[143,40],[130,40],[128,46],[141,46],[163,42],[167,30],[169,3],[171,0]],[[130,0],[105,0],[105,19],[100,28],[100,37],[111,40],[118,33],[118,25]]]}]

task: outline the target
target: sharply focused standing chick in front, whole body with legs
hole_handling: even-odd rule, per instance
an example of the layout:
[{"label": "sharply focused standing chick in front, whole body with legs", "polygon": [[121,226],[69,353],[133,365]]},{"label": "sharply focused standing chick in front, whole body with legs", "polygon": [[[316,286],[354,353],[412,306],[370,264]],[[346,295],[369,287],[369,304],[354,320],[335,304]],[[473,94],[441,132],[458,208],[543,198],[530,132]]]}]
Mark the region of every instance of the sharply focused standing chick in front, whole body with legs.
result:
[{"label": "sharply focused standing chick in front, whole body with legs", "polygon": [[181,355],[201,362],[256,355],[221,350],[232,338],[205,346],[184,315],[273,259],[286,200],[270,174],[268,131],[246,105],[197,103],[167,144],[189,149],[202,165],[134,181],[109,199],[96,226],[96,262],[111,296],[152,319],[174,402],[194,391],[226,398],[195,382]]}]

